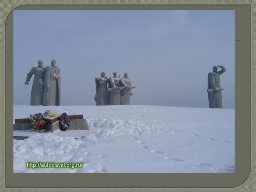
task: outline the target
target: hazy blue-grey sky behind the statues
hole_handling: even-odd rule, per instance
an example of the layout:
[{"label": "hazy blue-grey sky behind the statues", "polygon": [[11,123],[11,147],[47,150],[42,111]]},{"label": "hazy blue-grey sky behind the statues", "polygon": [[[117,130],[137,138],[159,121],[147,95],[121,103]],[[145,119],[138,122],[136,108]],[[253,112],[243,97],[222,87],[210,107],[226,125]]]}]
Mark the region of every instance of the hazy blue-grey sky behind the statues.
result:
[{"label": "hazy blue-grey sky behind the statues", "polygon": [[95,105],[95,81],[128,73],[131,104],[208,107],[207,75],[224,65],[223,108],[234,108],[233,10],[14,10],[14,105],[29,105],[43,60],[56,60],[61,105]]}]

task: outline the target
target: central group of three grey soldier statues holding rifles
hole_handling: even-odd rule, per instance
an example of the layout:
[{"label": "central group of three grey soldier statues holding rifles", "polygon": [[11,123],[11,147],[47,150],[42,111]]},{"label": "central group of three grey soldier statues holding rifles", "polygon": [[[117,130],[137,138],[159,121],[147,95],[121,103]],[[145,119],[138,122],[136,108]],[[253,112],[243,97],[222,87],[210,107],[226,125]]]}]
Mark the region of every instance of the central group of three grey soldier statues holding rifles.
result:
[{"label": "central group of three grey soldier statues holding rifles", "polygon": [[131,86],[128,74],[125,73],[121,79],[117,77],[116,72],[109,79],[105,75],[105,72],[102,72],[101,76],[95,77],[96,105],[130,105],[131,89],[135,87]]}]

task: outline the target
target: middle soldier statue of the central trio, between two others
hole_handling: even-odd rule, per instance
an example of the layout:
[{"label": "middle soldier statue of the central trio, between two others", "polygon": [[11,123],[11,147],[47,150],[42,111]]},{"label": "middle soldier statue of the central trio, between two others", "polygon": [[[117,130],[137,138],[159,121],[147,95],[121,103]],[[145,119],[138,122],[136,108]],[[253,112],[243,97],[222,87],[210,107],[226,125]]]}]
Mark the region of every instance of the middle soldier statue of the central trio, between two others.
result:
[{"label": "middle soldier statue of the central trio, between two others", "polygon": [[113,77],[109,78],[109,105],[120,105],[120,79],[113,73]]}]

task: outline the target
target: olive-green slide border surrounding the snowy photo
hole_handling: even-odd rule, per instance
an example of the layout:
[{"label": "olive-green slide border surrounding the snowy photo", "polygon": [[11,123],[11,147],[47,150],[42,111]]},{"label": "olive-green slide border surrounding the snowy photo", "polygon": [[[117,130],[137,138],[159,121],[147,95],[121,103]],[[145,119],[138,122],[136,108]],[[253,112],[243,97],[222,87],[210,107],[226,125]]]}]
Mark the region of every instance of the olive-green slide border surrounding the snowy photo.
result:
[{"label": "olive-green slide border surrounding the snowy photo", "polygon": [[[12,29],[8,29],[9,22],[13,22],[12,13],[7,15],[12,9],[32,9],[33,5],[20,6],[23,4],[40,4],[40,2],[35,1],[20,1],[19,3],[5,3],[2,5],[2,16],[1,17],[1,25],[3,26],[3,30],[1,31],[1,58],[4,58],[4,54],[6,54],[5,59],[1,59],[0,65],[0,86],[1,88],[5,88],[5,95],[3,92],[0,93],[1,98],[3,100],[1,103],[1,112],[0,115],[5,119],[5,129],[1,129],[2,134],[0,134],[1,139],[1,148],[4,151],[5,147],[5,155],[1,156],[2,160],[0,163],[1,170],[1,189],[4,190],[19,190],[19,191],[28,191],[29,189],[14,189],[14,187],[59,187],[64,189],[58,189],[61,191],[69,191],[67,187],[75,187],[72,189],[73,191],[82,191],[83,189],[77,187],[159,187],[161,189],[136,189],[139,191],[167,191],[169,189],[164,189],[163,187],[222,187],[218,188],[221,191],[255,191],[255,185],[253,185],[253,181],[255,180],[255,141],[251,138],[255,138],[255,130],[251,127],[255,126],[255,101],[251,100],[253,96],[255,96],[255,87],[251,85],[251,82],[255,83],[255,58],[251,58],[251,53],[255,53],[255,3],[253,1],[183,1],[182,3],[179,1],[131,1],[131,2],[111,2],[111,1],[88,1],[86,4],[98,4],[91,6],[82,6],[81,4],[85,4],[80,1],[76,2],[63,2],[59,1],[62,4],[80,4],[80,6],[76,7],[71,5],[65,9],[106,9],[104,8],[104,4],[113,4],[111,9],[124,9],[120,8],[116,4],[141,4],[133,7],[132,5],[126,5],[125,9],[159,9],[154,7],[152,8],[149,4],[163,4],[165,5],[163,9],[191,9],[186,6],[186,3],[194,4],[195,9],[232,9],[235,10],[235,38],[241,39],[241,41],[236,41],[235,43],[235,87],[243,87],[243,94],[239,93],[238,89],[235,89],[235,173],[231,174],[14,174],[13,173],[13,141],[12,139],[12,122],[13,122],[13,35]],[[45,2],[46,3],[46,2]],[[58,1],[49,1],[49,4],[58,4]],[[212,4],[211,6],[207,5],[197,5],[195,4]],[[225,5],[231,3],[233,5]],[[10,5],[11,4],[11,5]],[[46,3],[47,4],[47,3]],[[144,5],[143,5],[144,4]],[[148,4],[148,5],[146,5]],[[173,5],[167,6],[167,4],[184,4],[184,5]],[[217,5],[216,5],[217,4]],[[222,5],[221,5],[222,4]],[[236,5],[234,5],[236,4]],[[239,5],[241,4],[241,5]],[[245,6],[244,4],[247,4]],[[63,9],[65,5],[52,5],[52,6],[37,6],[36,9]],[[249,8],[248,8],[249,6]],[[61,8],[62,7],[62,8]],[[99,8],[102,7],[102,8]],[[133,8],[131,8],[133,7]],[[170,8],[172,7],[172,8]],[[238,14],[238,15],[237,15]],[[4,33],[4,24],[6,20],[6,30],[8,33]],[[247,19],[246,19],[247,18]],[[252,20],[250,20],[252,18]],[[238,22],[238,23],[237,23]],[[254,26],[253,26],[254,23]],[[11,24],[12,26],[12,24]],[[2,28],[1,28],[2,29]],[[252,31],[251,31],[252,30]],[[246,32],[246,33],[245,33]],[[252,39],[251,39],[252,37]],[[5,44],[6,40],[6,44]],[[4,46],[5,45],[5,46]],[[6,65],[4,65],[4,63]],[[251,65],[252,63],[252,65]],[[253,65],[254,64],[254,65]],[[238,73],[239,72],[239,73]],[[8,74],[8,75],[7,75]],[[5,81],[4,81],[5,80]],[[5,97],[4,97],[5,96]],[[5,100],[4,100],[5,99]],[[5,102],[5,103],[4,103]],[[4,105],[5,104],[5,105]],[[252,107],[251,107],[252,105]],[[11,106],[11,107],[9,107]],[[9,108],[8,108],[9,107]],[[252,109],[251,109],[252,108]],[[10,121],[11,120],[11,121]],[[10,123],[11,122],[11,123]],[[252,133],[252,135],[251,135]],[[12,144],[11,144],[12,143]],[[252,147],[252,148],[251,148]],[[250,156],[251,155],[251,156]],[[249,156],[249,157],[248,157]],[[8,159],[5,160],[5,159]],[[252,163],[252,169],[251,169]],[[251,171],[251,174],[250,174]],[[3,177],[5,173],[5,178]],[[3,179],[2,179],[3,177]],[[48,182],[41,182],[40,180],[48,180]],[[5,179],[5,180],[4,180]],[[63,182],[63,180],[70,179],[70,182]],[[246,180],[247,179],[247,180]],[[50,182],[52,181],[52,182]],[[96,182],[95,182],[96,181]],[[100,181],[100,182],[99,182]],[[214,182],[213,182],[214,181]],[[131,184],[132,182],[132,184]],[[82,184],[82,185],[79,185]],[[217,185],[216,185],[217,184]],[[241,185],[240,185],[241,184]],[[238,186],[240,185],[240,186]],[[236,187],[238,186],[238,187]],[[13,187],[13,188],[8,188]],[[235,188],[223,188],[223,187],[235,187]],[[65,189],[66,188],[66,189]],[[46,189],[30,189],[32,191],[45,191]],[[48,189],[51,190],[51,189]],[[88,189],[87,189],[88,190]],[[96,190],[91,189],[90,190]],[[99,189],[98,189],[99,190]],[[101,189],[103,190],[103,189]],[[104,189],[105,191],[111,190],[116,191],[120,190],[118,188],[115,189]],[[130,190],[128,188],[122,188],[122,191]],[[204,189],[177,189],[176,191],[216,191],[216,189],[204,188]]]}]

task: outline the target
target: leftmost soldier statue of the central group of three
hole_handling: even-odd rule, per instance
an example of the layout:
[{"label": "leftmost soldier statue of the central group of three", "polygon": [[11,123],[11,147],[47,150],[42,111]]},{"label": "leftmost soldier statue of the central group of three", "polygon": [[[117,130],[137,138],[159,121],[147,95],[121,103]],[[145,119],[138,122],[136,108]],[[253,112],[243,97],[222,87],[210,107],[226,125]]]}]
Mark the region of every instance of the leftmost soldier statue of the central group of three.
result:
[{"label": "leftmost soldier statue of the central group of three", "polygon": [[109,79],[105,77],[105,73],[102,72],[101,76],[95,77],[96,84],[96,94],[94,100],[96,105],[108,105],[108,81]]}]

